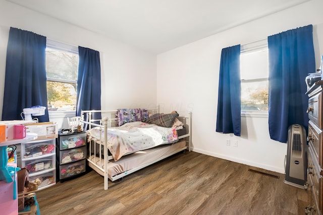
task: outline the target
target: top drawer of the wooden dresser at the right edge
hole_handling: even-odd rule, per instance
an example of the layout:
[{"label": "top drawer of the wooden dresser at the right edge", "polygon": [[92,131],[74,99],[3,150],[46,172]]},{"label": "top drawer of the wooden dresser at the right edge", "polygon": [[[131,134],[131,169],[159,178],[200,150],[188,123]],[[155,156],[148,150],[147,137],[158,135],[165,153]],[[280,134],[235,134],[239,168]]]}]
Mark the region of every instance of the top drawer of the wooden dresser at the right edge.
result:
[{"label": "top drawer of the wooden dresser at the right edge", "polygon": [[323,129],[322,122],[322,93],[312,96],[308,100],[308,118],[313,121],[320,129]]}]

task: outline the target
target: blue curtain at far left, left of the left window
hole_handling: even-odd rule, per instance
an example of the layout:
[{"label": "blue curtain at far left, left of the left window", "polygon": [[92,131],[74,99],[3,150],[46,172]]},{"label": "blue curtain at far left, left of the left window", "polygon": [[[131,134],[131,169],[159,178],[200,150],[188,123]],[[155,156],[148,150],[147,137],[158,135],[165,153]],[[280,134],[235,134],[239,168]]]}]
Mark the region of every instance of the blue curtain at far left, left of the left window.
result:
[{"label": "blue curtain at far left, left of the left window", "polygon": [[49,121],[45,67],[46,37],[10,28],[2,120],[21,120],[24,108],[46,107],[40,122]]}]

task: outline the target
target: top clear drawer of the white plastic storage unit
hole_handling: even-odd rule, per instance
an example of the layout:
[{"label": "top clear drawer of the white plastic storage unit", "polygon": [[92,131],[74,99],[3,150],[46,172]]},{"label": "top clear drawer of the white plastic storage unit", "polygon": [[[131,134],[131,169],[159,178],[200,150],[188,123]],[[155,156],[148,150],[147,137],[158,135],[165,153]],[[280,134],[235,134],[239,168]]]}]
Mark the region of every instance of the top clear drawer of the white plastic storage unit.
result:
[{"label": "top clear drawer of the white plastic storage unit", "polygon": [[22,158],[34,158],[46,154],[55,153],[55,139],[36,140],[27,144],[21,144]]}]

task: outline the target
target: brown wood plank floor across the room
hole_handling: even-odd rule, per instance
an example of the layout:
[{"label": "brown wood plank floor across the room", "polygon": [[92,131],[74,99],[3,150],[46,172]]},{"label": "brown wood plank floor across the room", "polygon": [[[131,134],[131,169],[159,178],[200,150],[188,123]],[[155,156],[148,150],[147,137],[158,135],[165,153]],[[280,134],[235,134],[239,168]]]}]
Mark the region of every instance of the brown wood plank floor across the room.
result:
[{"label": "brown wood plank floor across the room", "polygon": [[[260,170],[280,178],[248,171]],[[37,191],[46,214],[304,214],[305,190],[285,175],[195,152],[177,154],[109,181],[90,171]]]}]

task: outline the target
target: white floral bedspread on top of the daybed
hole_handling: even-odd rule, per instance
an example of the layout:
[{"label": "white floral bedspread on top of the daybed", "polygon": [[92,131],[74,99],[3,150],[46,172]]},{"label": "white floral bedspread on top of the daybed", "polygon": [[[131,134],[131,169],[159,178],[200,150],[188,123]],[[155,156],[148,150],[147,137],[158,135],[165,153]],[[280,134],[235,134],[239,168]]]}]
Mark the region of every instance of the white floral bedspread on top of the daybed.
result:
[{"label": "white floral bedspread on top of the daybed", "polygon": [[[89,135],[103,138],[104,130],[98,127],[86,131]],[[161,127],[144,122],[129,122],[120,127],[107,128],[107,148],[115,161],[123,155],[170,144],[178,139],[177,131],[171,127]]]}]

